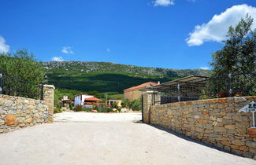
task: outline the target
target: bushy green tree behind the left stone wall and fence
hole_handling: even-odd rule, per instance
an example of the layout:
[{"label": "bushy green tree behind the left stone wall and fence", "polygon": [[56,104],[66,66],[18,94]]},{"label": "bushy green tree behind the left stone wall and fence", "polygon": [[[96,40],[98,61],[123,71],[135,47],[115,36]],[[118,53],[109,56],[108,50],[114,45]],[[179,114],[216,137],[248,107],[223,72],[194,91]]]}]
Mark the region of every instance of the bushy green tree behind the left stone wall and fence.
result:
[{"label": "bushy green tree behind the left stone wall and fence", "polygon": [[43,82],[45,72],[32,53],[20,49],[14,53],[0,53],[0,59],[0,71],[8,76],[2,84],[3,94],[23,97],[39,94],[39,86],[35,84]]}]

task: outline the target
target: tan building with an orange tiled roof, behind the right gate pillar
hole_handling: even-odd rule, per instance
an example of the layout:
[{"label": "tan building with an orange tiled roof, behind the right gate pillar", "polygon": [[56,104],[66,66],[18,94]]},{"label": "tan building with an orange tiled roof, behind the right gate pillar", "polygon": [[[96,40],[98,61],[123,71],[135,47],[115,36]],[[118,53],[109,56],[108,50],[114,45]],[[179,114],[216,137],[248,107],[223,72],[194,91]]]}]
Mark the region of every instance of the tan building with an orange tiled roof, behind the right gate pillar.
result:
[{"label": "tan building with an orange tiled roof, behind the right gate pillar", "polygon": [[140,84],[139,86],[132,86],[131,88],[124,90],[124,98],[128,99],[129,101],[134,101],[141,97],[142,91],[140,90],[151,86],[158,86],[158,83],[148,82]]}]

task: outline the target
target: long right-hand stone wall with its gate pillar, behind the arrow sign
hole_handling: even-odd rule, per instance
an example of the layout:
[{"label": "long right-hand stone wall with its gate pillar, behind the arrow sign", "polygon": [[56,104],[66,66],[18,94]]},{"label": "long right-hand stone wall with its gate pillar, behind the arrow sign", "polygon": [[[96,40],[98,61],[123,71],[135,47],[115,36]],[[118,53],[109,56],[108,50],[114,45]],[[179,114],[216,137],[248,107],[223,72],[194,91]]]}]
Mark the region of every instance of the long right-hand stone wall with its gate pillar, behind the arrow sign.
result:
[{"label": "long right-hand stone wall with its gate pillar, behind the arrow sign", "polygon": [[[256,129],[251,112],[239,109],[256,101],[256,97],[229,97],[150,105],[150,94],[144,94],[145,123],[184,134],[240,156],[256,156]],[[146,100],[146,102],[145,102]]]}]

